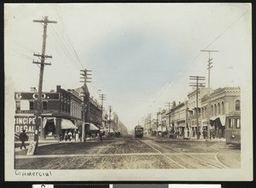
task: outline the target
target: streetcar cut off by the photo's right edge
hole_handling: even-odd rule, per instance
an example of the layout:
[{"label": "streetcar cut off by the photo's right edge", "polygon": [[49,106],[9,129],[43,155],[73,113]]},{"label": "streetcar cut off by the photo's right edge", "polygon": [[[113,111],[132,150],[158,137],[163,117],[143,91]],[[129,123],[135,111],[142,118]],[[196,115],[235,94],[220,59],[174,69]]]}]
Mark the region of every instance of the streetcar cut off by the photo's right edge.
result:
[{"label": "streetcar cut off by the photo's right edge", "polygon": [[241,112],[230,112],[226,117],[226,143],[231,145],[241,145]]}]

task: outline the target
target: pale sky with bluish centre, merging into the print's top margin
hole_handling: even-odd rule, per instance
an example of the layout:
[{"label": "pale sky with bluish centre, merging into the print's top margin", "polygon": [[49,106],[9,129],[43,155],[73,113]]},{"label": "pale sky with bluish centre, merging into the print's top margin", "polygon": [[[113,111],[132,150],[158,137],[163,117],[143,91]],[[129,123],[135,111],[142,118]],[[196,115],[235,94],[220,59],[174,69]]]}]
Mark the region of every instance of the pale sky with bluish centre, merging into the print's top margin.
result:
[{"label": "pale sky with bluish centre, merging into the print's top margin", "polygon": [[252,10],[249,3],[7,3],[4,5],[5,96],[38,88],[34,53],[42,53],[47,30],[43,91],[79,88],[80,70],[92,73],[90,95],[106,94],[121,122],[133,128],[166,103],[186,100],[189,76],[211,87],[252,87]]}]

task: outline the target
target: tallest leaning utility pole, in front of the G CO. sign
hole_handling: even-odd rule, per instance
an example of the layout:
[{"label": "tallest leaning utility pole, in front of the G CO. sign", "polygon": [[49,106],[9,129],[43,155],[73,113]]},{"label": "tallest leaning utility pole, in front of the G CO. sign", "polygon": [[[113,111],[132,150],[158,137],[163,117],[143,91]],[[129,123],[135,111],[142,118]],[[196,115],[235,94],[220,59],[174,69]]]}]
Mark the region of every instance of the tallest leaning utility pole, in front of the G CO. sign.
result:
[{"label": "tallest leaning utility pole, in front of the G CO. sign", "polygon": [[48,20],[48,16],[44,16],[43,20],[33,20],[33,22],[41,23],[44,26],[44,34],[43,34],[43,46],[42,46],[42,54],[33,54],[37,56],[39,61],[32,61],[32,63],[40,65],[40,76],[39,76],[39,83],[38,83],[38,103],[37,103],[37,114],[36,114],[36,128],[35,128],[35,135],[34,141],[36,141],[36,147],[38,146],[38,132],[41,129],[40,137],[41,140],[44,140],[44,131],[42,128],[42,117],[41,117],[41,109],[42,109],[42,89],[43,89],[43,77],[44,77],[44,66],[50,66],[50,63],[45,63],[44,61],[47,58],[52,58],[51,55],[45,55],[45,47],[46,47],[46,33],[47,33],[47,26],[49,23],[57,23],[56,21]]}]

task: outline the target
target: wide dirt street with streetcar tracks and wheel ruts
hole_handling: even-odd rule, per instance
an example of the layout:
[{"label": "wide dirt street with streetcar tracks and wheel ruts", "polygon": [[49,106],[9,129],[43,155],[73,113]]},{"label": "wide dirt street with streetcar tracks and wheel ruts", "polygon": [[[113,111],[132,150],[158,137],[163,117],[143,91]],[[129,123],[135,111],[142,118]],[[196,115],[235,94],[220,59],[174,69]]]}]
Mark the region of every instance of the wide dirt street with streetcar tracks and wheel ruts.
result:
[{"label": "wide dirt street with streetcar tracks and wheel ruts", "polygon": [[[34,156],[15,152],[16,169],[240,168],[240,150],[223,141],[132,135],[85,143],[42,145]],[[230,160],[232,158],[232,160]]]}]

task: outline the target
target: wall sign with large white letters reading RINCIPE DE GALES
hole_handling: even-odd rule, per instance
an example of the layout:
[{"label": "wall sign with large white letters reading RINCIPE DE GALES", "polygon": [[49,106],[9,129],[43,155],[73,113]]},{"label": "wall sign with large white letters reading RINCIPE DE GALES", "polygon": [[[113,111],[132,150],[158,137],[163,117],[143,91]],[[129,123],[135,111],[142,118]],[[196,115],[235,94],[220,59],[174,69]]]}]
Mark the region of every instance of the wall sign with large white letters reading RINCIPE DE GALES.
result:
[{"label": "wall sign with large white letters reading RINCIPE DE GALES", "polygon": [[20,134],[26,130],[29,140],[34,138],[36,117],[15,117],[15,133]]}]

